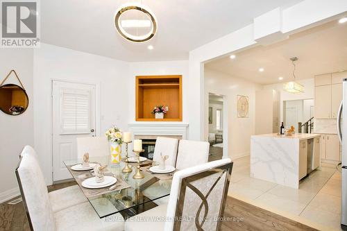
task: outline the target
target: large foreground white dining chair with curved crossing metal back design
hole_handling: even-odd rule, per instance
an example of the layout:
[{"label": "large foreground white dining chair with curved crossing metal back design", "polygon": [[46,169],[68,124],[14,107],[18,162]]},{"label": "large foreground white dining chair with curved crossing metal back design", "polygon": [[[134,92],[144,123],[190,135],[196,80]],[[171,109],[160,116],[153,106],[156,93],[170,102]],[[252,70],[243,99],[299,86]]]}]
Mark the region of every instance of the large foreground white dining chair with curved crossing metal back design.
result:
[{"label": "large foreground white dining chair with curved crossing metal back design", "polygon": [[124,230],[220,230],[231,171],[230,159],[177,171],[169,203],[130,217]]}]

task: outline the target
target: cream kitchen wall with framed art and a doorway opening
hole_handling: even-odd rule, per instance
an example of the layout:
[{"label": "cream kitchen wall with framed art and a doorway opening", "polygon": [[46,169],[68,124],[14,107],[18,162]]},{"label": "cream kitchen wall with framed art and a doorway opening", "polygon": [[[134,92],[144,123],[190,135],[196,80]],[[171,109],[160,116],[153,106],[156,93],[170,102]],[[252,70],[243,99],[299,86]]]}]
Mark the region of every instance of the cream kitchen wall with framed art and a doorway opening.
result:
[{"label": "cream kitchen wall with framed art and a doorway opening", "polygon": [[[222,94],[225,96],[223,97],[224,110],[228,112],[228,156],[235,159],[249,155],[251,135],[255,134],[255,91],[261,88],[260,85],[210,69],[205,69],[204,76],[205,140],[208,140],[208,93]],[[237,117],[238,94],[249,97],[248,118]]]}]

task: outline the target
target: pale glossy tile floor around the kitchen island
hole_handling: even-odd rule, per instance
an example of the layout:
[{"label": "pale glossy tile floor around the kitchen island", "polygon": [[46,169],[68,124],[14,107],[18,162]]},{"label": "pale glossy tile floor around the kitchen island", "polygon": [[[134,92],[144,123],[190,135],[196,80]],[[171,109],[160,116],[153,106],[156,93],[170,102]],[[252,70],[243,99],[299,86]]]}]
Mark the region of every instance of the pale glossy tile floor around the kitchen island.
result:
[{"label": "pale glossy tile floor around the kitchen island", "polygon": [[234,160],[229,196],[321,230],[341,230],[341,173],[335,165],[322,164],[293,189],[249,177],[249,160],[249,156]]}]

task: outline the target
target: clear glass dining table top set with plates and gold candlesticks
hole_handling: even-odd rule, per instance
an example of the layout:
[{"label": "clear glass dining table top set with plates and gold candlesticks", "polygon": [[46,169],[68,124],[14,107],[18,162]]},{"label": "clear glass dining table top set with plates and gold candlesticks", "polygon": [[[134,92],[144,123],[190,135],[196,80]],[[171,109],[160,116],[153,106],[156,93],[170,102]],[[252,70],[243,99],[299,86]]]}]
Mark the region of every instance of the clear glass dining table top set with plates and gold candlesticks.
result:
[{"label": "clear glass dining table top set with plates and gold candlesticks", "polygon": [[[105,176],[114,176],[118,182],[126,185],[126,188],[117,189],[116,187],[115,190],[109,190],[108,187],[104,193],[100,193],[100,189],[87,189],[88,191],[86,191],[81,185],[81,182],[87,178],[93,178],[93,173],[90,170],[74,171],[71,169],[71,166],[81,164],[81,162],[82,159],[65,160],[64,164],[100,218],[118,212],[123,216],[134,216],[157,206],[155,200],[164,198],[170,194],[172,174],[167,174],[167,178],[160,179],[150,171],[142,171],[144,178],[134,179],[135,164],[132,166],[132,172],[122,173],[121,169],[124,168],[125,163],[121,162],[117,165],[110,164],[110,156],[108,155],[90,157],[90,162],[101,165],[108,164]],[[95,194],[93,191],[95,191]]]}]

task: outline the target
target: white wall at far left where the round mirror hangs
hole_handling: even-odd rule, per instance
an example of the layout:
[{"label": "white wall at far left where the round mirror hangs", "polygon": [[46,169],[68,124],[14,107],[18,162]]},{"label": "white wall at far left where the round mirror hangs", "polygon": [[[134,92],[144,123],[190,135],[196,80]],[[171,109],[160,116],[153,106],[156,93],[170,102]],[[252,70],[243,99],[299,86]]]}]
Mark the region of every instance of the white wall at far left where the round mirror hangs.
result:
[{"label": "white wall at far left where the round mirror hangs", "polygon": [[[15,69],[29,98],[26,112],[10,116],[0,112],[0,203],[19,194],[15,168],[19,154],[26,144],[33,145],[33,50],[1,49],[0,82],[11,69]],[[5,83],[18,84],[15,75]]]}]

